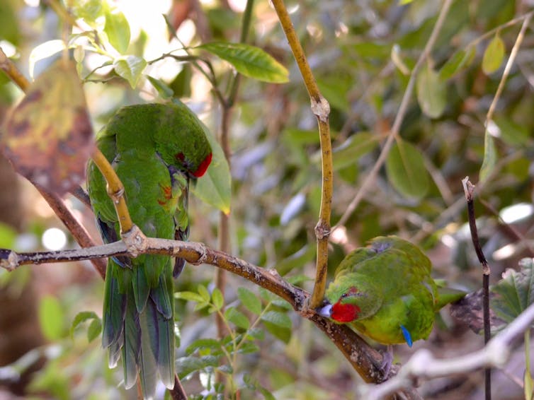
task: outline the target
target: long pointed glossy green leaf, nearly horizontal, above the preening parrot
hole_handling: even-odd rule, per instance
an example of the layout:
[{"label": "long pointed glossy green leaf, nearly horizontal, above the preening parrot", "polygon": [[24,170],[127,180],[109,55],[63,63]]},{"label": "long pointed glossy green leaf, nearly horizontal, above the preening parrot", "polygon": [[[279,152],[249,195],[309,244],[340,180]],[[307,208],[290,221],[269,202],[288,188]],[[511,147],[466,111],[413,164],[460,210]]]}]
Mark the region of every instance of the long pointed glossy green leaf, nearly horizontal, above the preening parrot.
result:
[{"label": "long pointed glossy green leaf, nearly horizontal, above the preening parrot", "polygon": [[228,61],[237,72],[270,83],[289,81],[285,67],[259,47],[244,43],[211,42],[196,47]]}]

